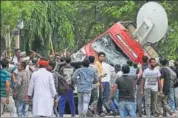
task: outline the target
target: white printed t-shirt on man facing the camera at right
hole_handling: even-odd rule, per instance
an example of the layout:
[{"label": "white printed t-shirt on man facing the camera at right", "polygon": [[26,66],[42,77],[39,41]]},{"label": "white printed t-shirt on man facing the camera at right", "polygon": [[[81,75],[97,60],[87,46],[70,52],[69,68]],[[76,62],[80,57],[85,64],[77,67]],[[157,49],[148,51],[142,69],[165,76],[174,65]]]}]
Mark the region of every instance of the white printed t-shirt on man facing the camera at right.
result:
[{"label": "white printed t-shirt on man facing the camera at right", "polygon": [[158,78],[161,76],[159,69],[154,68],[151,70],[147,68],[143,72],[143,78],[145,79],[145,89],[150,88],[152,91],[158,91]]}]

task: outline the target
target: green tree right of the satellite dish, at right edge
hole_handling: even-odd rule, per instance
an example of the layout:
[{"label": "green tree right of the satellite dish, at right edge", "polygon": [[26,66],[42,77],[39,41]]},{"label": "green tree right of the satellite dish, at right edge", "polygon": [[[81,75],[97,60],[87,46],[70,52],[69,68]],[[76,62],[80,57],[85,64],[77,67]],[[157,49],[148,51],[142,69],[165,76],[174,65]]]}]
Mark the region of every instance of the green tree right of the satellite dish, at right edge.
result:
[{"label": "green tree right of the satellite dish, at right edge", "polygon": [[166,9],[169,20],[169,30],[164,40],[158,43],[158,48],[161,54],[168,59],[178,58],[178,2],[177,1],[164,1],[161,2]]}]

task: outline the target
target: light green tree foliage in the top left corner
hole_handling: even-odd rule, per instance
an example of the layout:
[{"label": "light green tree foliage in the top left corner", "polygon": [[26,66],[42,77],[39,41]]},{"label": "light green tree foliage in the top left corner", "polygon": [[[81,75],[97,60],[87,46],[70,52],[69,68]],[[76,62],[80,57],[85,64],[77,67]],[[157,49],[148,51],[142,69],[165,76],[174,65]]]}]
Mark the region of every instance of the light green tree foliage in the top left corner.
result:
[{"label": "light green tree foliage in the top left corner", "polygon": [[16,28],[20,19],[28,19],[31,15],[33,2],[30,1],[2,1],[1,3],[1,29],[2,34],[7,33],[6,26],[10,30]]}]

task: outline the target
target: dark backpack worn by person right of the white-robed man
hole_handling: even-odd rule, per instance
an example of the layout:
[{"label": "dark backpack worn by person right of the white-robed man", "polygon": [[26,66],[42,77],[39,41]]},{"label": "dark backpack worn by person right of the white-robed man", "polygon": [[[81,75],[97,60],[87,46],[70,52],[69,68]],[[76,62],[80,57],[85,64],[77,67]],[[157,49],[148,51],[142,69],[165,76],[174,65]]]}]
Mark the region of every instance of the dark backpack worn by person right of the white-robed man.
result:
[{"label": "dark backpack worn by person right of the white-robed man", "polygon": [[67,81],[59,75],[58,77],[58,94],[63,95],[69,89]]}]

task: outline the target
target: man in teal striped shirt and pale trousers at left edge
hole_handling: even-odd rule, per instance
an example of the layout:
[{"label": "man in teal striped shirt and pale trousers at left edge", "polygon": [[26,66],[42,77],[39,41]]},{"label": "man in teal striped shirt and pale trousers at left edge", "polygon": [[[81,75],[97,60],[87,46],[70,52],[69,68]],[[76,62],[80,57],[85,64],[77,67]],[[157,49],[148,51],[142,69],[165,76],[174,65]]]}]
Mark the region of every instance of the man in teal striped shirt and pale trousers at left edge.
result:
[{"label": "man in teal striped shirt and pale trousers at left edge", "polygon": [[12,89],[10,88],[11,85],[11,74],[7,71],[9,62],[7,60],[1,61],[2,69],[0,70],[0,76],[1,76],[1,115],[3,112],[3,106],[5,105],[10,112],[10,117],[16,117],[16,107],[15,102],[12,97],[11,92]]}]

